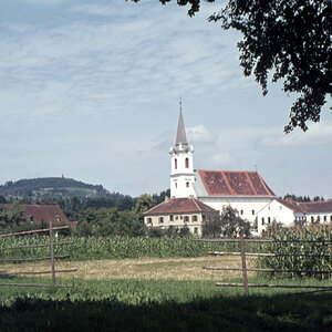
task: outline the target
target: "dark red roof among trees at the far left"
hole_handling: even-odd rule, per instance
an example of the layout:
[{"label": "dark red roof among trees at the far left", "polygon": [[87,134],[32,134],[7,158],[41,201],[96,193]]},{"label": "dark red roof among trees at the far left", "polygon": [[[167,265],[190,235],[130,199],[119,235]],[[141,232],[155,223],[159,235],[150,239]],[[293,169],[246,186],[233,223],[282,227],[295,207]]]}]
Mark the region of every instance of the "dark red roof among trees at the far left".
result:
[{"label": "dark red roof among trees at the far left", "polygon": [[[4,204],[3,206],[7,209],[14,207],[14,205],[11,204]],[[53,225],[70,222],[59,205],[19,205],[19,207],[23,209],[28,221],[48,224],[52,220]]]}]

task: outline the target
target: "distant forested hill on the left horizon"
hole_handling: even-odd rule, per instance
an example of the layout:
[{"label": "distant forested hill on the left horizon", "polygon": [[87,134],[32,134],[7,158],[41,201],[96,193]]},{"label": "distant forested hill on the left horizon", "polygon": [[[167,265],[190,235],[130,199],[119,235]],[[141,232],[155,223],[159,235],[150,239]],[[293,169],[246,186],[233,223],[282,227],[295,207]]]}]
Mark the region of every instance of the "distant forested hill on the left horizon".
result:
[{"label": "distant forested hill on the left horizon", "polygon": [[0,196],[42,198],[49,197],[103,197],[110,194],[102,185],[89,185],[72,178],[42,177],[7,181],[0,186]]}]

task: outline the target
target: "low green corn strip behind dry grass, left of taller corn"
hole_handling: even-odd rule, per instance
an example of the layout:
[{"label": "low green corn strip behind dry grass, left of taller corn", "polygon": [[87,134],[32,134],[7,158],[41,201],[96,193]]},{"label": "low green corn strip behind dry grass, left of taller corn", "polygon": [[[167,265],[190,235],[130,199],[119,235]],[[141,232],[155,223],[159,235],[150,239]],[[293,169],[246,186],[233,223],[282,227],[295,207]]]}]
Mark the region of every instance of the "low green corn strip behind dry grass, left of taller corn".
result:
[{"label": "low green corn strip behind dry grass, left of taller corn", "polygon": [[[188,238],[77,238],[59,237],[60,241],[72,242],[54,246],[54,255],[70,255],[71,260],[125,259],[139,257],[200,257],[210,250],[239,250],[238,243],[197,242]],[[0,239],[0,261],[50,256],[50,248],[6,249],[18,246],[48,245],[48,236],[25,236]]]}]

